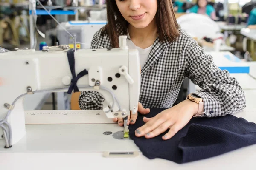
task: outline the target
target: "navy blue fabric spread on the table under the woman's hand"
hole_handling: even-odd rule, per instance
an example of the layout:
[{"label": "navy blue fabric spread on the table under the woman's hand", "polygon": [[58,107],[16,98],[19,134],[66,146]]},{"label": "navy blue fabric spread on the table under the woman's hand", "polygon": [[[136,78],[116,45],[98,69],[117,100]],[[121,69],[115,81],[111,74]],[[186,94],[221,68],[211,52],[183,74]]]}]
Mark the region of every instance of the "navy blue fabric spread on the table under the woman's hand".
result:
[{"label": "navy blue fabric spread on the table under the woman's hand", "polygon": [[129,125],[130,138],[149,159],[162,158],[182,164],[218,156],[241,147],[256,144],[256,124],[233,115],[215,118],[192,118],[169,140],[162,136],[146,139],[136,137],[135,130],[144,125],[143,116],[153,117],[166,108],[151,108],[148,115],[139,113],[134,125]]}]

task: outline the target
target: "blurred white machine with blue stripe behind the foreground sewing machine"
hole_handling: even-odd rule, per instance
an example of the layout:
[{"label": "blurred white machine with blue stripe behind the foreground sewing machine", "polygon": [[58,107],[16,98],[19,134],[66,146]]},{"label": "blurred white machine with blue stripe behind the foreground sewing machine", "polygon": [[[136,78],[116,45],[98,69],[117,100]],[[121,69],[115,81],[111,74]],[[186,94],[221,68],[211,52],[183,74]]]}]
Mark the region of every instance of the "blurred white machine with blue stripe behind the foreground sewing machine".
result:
[{"label": "blurred white machine with blue stripe behind the foreground sewing machine", "polygon": [[[105,26],[106,21],[68,21],[61,23],[61,26],[57,26],[57,39],[59,44],[70,45],[73,48],[73,38],[70,34],[76,34],[76,48],[79,49],[90,49],[91,40],[93,35],[100,28]],[[67,31],[70,33],[68,34]],[[80,42],[80,43],[79,43]]]}]

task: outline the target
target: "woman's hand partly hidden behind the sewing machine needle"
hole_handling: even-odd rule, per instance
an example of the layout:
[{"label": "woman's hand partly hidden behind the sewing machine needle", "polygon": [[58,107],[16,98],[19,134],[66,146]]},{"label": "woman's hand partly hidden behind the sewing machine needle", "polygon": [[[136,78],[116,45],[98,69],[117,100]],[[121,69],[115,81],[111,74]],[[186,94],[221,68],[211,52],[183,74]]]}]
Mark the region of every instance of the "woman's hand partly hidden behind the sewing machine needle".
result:
[{"label": "woman's hand partly hidden behind the sewing machine needle", "polygon": [[[138,117],[138,111],[141,114],[148,114],[150,112],[150,109],[143,108],[142,104],[139,102],[137,112],[135,114],[131,114],[131,116],[128,116],[127,125],[130,125],[130,124],[133,125],[136,122],[136,119]],[[122,118],[114,118],[113,121],[118,122],[119,126],[124,125],[124,120]]]}]

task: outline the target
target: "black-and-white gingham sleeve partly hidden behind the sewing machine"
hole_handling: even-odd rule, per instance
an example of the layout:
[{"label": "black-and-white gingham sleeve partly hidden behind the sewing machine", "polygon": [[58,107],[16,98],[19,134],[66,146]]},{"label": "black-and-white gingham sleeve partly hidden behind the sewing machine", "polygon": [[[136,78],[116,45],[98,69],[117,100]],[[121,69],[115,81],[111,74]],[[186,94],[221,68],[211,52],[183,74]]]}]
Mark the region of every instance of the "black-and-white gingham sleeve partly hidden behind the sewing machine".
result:
[{"label": "black-and-white gingham sleeve partly hidden behind the sewing machine", "polygon": [[[91,49],[98,49],[101,46],[98,43],[98,36],[100,31],[93,35],[93,40],[91,41]],[[104,97],[97,91],[82,91],[78,102],[79,107],[82,110],[102,110]]]}]

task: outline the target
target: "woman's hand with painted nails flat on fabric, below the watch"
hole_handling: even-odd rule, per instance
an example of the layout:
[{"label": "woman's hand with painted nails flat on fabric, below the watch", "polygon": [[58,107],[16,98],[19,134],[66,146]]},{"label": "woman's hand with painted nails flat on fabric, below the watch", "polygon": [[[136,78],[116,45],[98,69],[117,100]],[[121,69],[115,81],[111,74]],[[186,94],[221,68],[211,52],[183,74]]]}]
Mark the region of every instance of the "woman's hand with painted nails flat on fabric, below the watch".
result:
[{"label": "woman's hand with painted nails flat on fabric, below the watch", "polygon": [[198,111],[198,104],[189,99],[166,109],[152,118],[143,118],[145,125],[135,130],[137,137],[153,138],[170,129],[162,138],[172,138]]}]

